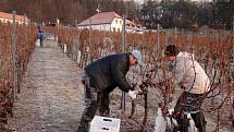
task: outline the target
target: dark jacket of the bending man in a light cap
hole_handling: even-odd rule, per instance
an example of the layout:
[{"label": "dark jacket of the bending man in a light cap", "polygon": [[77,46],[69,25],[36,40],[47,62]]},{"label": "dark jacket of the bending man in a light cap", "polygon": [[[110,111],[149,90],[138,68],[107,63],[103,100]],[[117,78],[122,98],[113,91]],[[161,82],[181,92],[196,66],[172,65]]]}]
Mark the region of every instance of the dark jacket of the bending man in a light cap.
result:
[{"label": "dark jacket of the bending man in a light cap", "polygon": [[85,68],[86,74],[90,77],[90,86],[96,87],[97,92],[114,86],[119,86],[123,92],[133,89],[125,77],[128,70],[128,53],[107,56]]}]

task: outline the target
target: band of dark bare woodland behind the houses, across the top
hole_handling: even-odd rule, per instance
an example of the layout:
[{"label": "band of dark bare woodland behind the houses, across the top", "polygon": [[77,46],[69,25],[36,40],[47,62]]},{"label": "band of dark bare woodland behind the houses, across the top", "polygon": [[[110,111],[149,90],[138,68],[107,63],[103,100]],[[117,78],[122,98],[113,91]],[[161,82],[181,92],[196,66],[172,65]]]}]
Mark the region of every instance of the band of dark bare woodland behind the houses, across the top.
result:
[{"label": "band of dark bare woodland behind the houses, across the top", "polygon": [[100,11],[115,11],[130,20],[138,20],[147,28],[162,27],[197,28],[207,25],[212,28],[232,28],[234,0],[193,2],[190,0],[1,0],[0,11],[26,14],[33,22],[56,22],[75,25]]}]

